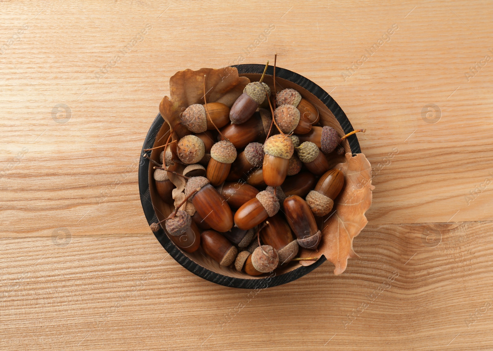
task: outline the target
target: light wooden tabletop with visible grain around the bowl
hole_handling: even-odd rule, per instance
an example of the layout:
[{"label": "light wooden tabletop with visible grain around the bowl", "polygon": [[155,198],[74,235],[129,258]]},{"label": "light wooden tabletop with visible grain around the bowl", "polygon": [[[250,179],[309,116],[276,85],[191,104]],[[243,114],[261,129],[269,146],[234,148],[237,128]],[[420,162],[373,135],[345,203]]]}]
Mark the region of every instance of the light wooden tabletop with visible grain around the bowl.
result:
[{"label": "light wooden tabletop with visible grain around the bowl", "polygon": [[[493,350],[491,3],[0,11],[1,349]],[[367,129],[374,202],[342,275],[227,288],[149,230],[139,154],[176,71],[276,52]]]}]

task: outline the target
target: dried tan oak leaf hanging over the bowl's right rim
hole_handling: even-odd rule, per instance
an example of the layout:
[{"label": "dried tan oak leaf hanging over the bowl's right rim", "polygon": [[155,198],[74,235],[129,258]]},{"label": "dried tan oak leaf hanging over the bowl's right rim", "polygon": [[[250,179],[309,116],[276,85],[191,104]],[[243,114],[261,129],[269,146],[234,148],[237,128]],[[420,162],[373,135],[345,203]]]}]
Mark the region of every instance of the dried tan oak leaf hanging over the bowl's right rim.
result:
[{"label": "dried tan oak leaf hanging over the bowl's right rim", "polygon": [[[370,208],[372,191],[371,165],[363,154],[346,154],[346,162],[334,168],[344,173],[345,184],[334,201],[334,209],[323,218],[322,239],[318,253],[301,250],[301,257],[324,255],[335,265],[334,274],[341,274],[348,266],[348,258],[358,257],[352,249],[352,240],[368,223],[365,212]],[[315,261],[300,261],[310,266]]]}]

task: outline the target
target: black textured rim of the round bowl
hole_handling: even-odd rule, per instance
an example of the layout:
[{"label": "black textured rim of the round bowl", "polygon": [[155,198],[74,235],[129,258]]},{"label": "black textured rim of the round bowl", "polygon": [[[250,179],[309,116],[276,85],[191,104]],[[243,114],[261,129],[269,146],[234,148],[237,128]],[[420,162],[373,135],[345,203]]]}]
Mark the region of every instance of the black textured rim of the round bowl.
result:
[{"label": "black textured rim of the round bowl", "polygon": [[[265,68],[264,65],[260,65],[260,64],[235,65],[232,67],[236,67],[238,69],[239,74],[252,74],[252,73],[262,74]],[[274,67],[269,66],[267,68],[266,74],[272,76],[274,74]],[[313,81],[303,76],[300,76],[295,72],[279,67],[276,67],[276,77],[289,80],[305,88],[306,90],[310,91],[320,101],[322,101],[325,104],[325,106],[329,108],[329,110],[334,114],[334,116],[341,124],[341,127],[346,133],[349,133],[353,130],[351,122],[349,121],[344,111],[342,111],[341,107],[334,101],[334,99],[330,97],[330,95],[325,90],[323,90]],[[145,153],[144,149],[150,149],[153,147],[154,141],[156,139],[156,135],[158,131],[161,129],[163,123],[164,123],[164,119],[161,117],[161,114],[158,114],[154,119],[154,121],[152,122],[149,132],[145,137],[144,144],[141,150],[141,157],[139,163],[139,191],[141,195],[142,209],[144,211],[145,218],[147,219],[147,223],[149,223],[149,225],[151,223],[158,222],[158,219],[156,213],[154,212],[154,207],[152,206],[151,196],[149,192],[149,180],[148,180],[149,160],[142,156]],[[361,152],[358,139],[355,134],[348,137],[348,142],[353,154],[358,154]],[[265,289],[267,287],[282,285],[290,281],[296,280],[307,273],[312,272],[314,269],[316,269],[318,266],[320,266],[322,263],[326,261],[326,258],[324,256],[321,257],[319,260],[317,260],[317,262],[315,262],[313,265],[310,265],[308,267],[300,266],[290,272],[283,273],[281,275],[275,275],[275,276],[268,275],[262,278],[252,278],[252,279],[234,278],[231,276],[212,272],[211,270],[208,270],[207,268],[202,267],[199,264],[192,261],[191,259],[189,259],[175,246],[175,244],[170,240],[168,235],[166,235],[166,233],[164,233],[162,229],[154,233],[154,235],[161,243],[161,245],[165,248],[165,250],[169,252],[170,256],[173,257],[176,260],[176,262],[178,262],[181,266],[186,268],[188,271],[206,280],[209,280],[213,283],[228,286],[228,287],[234,287],[234,288]]]}]

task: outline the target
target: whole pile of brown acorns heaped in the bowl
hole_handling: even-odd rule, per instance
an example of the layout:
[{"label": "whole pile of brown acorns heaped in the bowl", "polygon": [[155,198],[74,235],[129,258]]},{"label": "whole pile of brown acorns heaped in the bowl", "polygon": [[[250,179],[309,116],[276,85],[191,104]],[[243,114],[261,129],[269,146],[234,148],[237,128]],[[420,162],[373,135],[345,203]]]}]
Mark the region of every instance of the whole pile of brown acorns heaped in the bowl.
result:
[{"label": "whole pile of brown acorns heaped in the bowl", "polygon": [[295,89],[279,91],[271,101],[263,77],[247,84],[231,109],[207,101],[189,106],[180,115],[191,134],[176,140],[179,159],[165,147],[163,164],[154,167],[163,201],[173,203],[170,164],[186,165],[180,174],[172,172],[186,186],[183,202],[151,224],[152,231],[164,223],[182,250],[202,246],[221,266],[234,264],[250,275],[300,260],[299,246],[317,249],[315,217],[332,210],[344,185],[344,174],[330,169],[326,155],[343,155],[341,141],[355,132],[340,137],[330,126],[316,126],[317,109]]}]

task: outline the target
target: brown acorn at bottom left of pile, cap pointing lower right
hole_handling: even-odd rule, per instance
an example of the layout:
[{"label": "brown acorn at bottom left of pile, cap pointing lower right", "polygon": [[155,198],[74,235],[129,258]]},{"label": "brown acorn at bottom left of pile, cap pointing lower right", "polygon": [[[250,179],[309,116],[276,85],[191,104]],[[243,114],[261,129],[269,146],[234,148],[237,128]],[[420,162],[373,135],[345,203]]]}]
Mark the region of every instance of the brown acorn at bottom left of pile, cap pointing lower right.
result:
[{"label": "brown acorn at bottom left of pile, cap pointing lower right", "polygon": [[228,239],[216,231],[205,231],[200,234],[204,251],[221,266],[231,265],[238,254],[238,249]]}]

